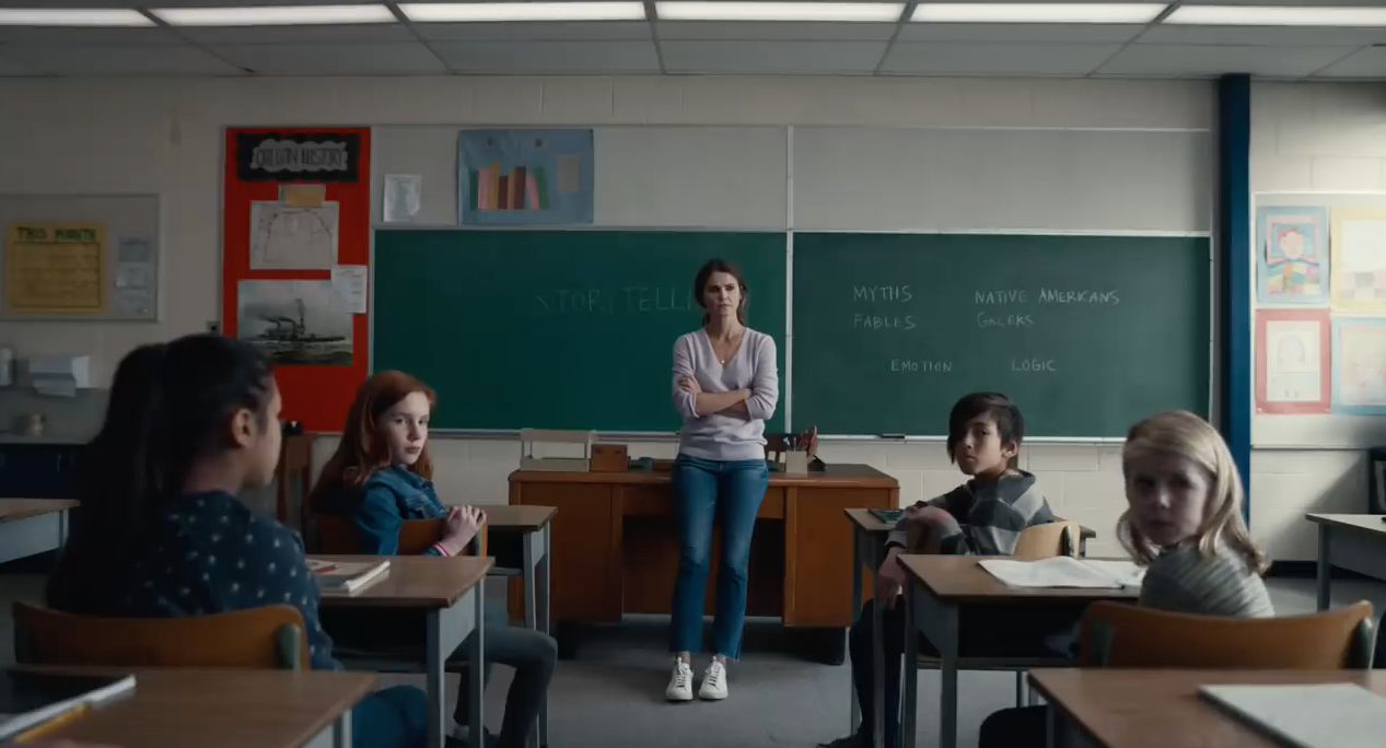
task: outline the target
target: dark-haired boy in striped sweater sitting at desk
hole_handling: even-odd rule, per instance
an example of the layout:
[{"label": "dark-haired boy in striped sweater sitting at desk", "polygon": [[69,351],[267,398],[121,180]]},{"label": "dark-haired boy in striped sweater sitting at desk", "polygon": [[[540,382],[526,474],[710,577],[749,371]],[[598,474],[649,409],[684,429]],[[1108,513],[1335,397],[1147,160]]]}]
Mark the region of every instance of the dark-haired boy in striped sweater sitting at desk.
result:
[{"label": "dark-haired boy in striped sweater sitting at desk", "polygon": [[[1023,435],[1020,409],[999,392],[973,392],[954,404],[948,414],[948,457],[972,479],[909,507],[890,533],[890,553],[876,578],[876,600],[866,603],[848,636],[862,724],[855,734],[822,744],[823,748],[873,745],[872,700],[875,679],[881,676],[872,672],[872,605],[883,607],[884,744],[887,748],[900,745],[900,661],[905,651],[905,611],[900,596],[908,583],[895,562],[901,553],[1005,555],[1015,550],[1021,531],[1053,521],[1035,477],[1013,467]],[[1027,625],[1017,641],[1015,622],[998,625],[991,618],[967,612],[960,612],[959,637],[960,650],[969,655],[1034,652],[1048,633],[1031,634]],[[920,643],[920,652],[936,654],[926,641]]]}]

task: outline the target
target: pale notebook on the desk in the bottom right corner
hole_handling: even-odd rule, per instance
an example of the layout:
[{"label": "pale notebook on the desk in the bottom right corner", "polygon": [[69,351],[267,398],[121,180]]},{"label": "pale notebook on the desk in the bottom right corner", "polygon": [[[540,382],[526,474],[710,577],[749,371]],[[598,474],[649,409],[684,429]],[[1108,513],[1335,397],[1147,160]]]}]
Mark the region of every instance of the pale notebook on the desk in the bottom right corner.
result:
[{"label": "pale notebook on the desk in the bottom right corner", "polygon": [[1378,748],[1386,698],[1356,683],[1209,684],[1199,697],[1297,748]]}]

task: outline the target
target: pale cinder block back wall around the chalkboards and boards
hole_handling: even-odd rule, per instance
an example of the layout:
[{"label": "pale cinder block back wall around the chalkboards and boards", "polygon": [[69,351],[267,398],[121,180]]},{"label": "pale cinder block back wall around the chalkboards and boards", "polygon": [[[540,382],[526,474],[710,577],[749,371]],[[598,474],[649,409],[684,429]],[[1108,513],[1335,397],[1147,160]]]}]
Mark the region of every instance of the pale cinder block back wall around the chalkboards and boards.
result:
[{"label": "pale cinder block back wall around the chalkboards and boards", "polygon": [[[376,78],[0,82],[0,191],[161,193],[165,247],[157,324],[0,323],[22,356],[85,352],[108,381],[147,341],[200,331],[219,314],[222,127],[230,125],[802,125],[955,129],[1207,130],[1207,82],[847,78]],[[1386,104],[1360,86],[1256,87],[1256,188],[1382,187]],[[1306,104],[1307,103],[1307,104]],[[1376,127],[1372,143],[1364,130]],[[1353,137],[1349,137],[1353,136]],[[1375,148],[1372,155],[1369,151]],[[448,157],[450,158],[450,155]],[[378,175],[374,175],[378,177]],[[940,179],[948,179],[940,175]],[[1141,173],[1130,175],[1132,183]],[[1113,184],[1120,188],[1120,184]],[[315,450],[322,464],[331,449]],[[438,483],[455,503],[503,503],[517,446],[439,439]],[[672,443],[633,445],[672,456]],[[904,501],[952,488],[940,443],[823,447],[898,477]],[[1031,446],[1055,510],[1099,532],[1094,555],[1120,553],[1114,446]],[[1354,453],[1257,453],[1253,531],[1278,558],[1310,558],[1308,507],[1351,508]],[[1292,521],[1295,519],[1295,521]]]}]

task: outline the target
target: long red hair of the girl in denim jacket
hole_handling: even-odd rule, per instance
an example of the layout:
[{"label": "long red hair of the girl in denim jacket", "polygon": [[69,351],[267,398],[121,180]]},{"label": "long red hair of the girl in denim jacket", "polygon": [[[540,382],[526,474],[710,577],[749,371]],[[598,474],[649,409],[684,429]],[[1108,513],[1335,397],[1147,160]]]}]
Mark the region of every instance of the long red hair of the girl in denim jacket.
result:
[{"label": "long red hair of the girl in denim jacket", "polygon": [[[346,410],[346,422],[342,425],[337,452],[323,465],[317,485],[313,486],[315,499],[328,492],[356,488],[366,482],[371,472],[389,465],[389,447],[381,434],[380,418],[414,392],[428,398],[430,407],[437,403],[437,395],[428,385],[403,371],[378,371],[362,382],[351,409]],[[427,442],[419,453],[419,460],[409,465],[409,471],[421,478],[432,478],[432,460],[428,458]]]}]

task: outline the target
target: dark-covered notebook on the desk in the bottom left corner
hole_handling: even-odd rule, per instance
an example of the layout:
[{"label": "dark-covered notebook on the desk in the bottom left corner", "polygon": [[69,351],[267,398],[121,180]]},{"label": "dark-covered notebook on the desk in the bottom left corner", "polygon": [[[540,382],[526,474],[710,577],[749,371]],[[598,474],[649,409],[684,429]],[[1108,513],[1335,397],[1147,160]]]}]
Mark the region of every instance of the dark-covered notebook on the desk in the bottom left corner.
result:
[{"label": "dark-covered notebook on the desk in the bottom left corner", "polygon": [[133,675],[0,670],[0,742],[134,691]]}]

